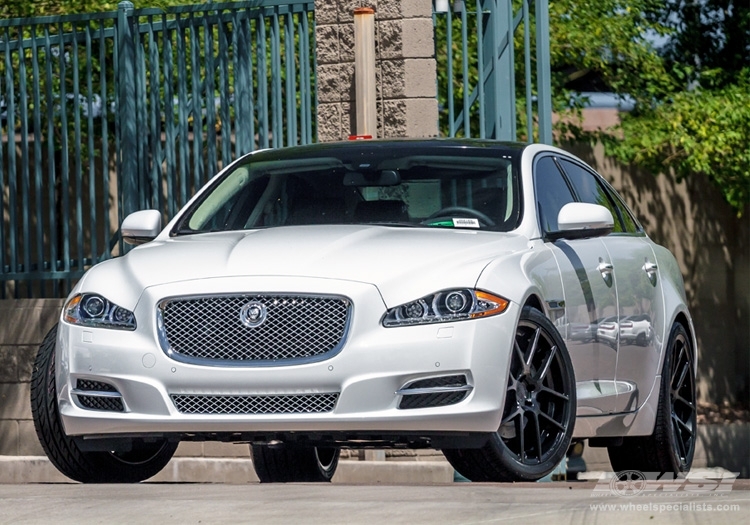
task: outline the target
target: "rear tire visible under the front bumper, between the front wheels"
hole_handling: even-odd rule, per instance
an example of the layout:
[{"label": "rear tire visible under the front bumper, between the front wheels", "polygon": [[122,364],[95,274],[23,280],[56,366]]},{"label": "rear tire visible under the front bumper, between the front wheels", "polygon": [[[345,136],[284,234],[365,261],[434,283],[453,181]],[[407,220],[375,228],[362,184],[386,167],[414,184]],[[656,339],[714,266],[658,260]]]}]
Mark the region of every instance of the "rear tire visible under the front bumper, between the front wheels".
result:
[{"label": "rear tire visible under the front bumper, between the front wheels", "polygon": [[250,445],[253,466],[261,483],[330,482],[339,464],[335,447],[305,447],[280,443]]}]

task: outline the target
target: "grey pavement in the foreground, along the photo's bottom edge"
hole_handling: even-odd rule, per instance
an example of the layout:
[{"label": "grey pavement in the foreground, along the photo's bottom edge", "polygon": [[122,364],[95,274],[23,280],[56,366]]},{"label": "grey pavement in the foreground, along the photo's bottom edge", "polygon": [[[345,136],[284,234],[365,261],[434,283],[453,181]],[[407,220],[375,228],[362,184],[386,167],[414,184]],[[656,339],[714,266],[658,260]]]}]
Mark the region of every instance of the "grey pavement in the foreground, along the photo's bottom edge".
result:
[{"label": "grey pavement in the foreground, along the photo's bottom edge", "polygon": [[551,483],[0,485],[0,523],[750,523],[750,480],[631,490]]}]

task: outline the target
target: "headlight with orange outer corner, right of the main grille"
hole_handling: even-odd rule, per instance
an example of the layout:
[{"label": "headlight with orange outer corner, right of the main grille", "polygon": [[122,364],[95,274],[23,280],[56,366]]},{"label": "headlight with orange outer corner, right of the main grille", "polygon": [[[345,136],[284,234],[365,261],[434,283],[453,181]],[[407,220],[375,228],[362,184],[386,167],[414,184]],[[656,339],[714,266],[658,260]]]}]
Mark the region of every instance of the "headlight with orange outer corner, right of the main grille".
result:
[{"label": "headlight with orange outer corner, right of the main grille", "polygon": [[443,290],[391,308],[383,317],[383,326],[447,323],[503,313],[508,300],[483,292],[460,288]]}]

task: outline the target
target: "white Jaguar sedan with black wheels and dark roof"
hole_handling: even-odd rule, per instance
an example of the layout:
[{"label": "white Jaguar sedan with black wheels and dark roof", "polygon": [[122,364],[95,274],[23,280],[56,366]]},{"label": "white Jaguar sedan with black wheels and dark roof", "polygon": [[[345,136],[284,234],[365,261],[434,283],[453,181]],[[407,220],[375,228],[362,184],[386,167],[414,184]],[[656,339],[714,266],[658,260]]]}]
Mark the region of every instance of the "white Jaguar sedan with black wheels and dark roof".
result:
[{"label": "white Jaguar sedan with black wheels and dark roof", "polygon": [[[680,473],[695,332],[673,256],[553,147],[383,140],[248,154],[91,268],[40,347],[37,433],[82,482],[135,482],[180,441],[249,443],[262,482],[329,481],[342,447],[441,449],[536,480],[571,443]],[[581,337],[607,317],[638,344]],[[573,328],[573,329],[572,329]]]}]

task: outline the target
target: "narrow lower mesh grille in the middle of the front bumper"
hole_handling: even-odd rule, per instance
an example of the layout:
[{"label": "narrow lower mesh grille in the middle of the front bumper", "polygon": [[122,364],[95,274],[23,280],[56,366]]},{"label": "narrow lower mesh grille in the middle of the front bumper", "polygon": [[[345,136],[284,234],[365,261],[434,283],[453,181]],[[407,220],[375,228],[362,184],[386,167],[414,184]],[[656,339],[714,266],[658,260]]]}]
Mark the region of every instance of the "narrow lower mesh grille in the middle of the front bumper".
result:
[{"label": "narrow lower mesh grille in the middle of the front bumper", "polygon": [[338,393],[226,396],[172,394],[183,414],[319,414],[332,412]]}]

